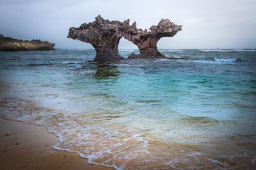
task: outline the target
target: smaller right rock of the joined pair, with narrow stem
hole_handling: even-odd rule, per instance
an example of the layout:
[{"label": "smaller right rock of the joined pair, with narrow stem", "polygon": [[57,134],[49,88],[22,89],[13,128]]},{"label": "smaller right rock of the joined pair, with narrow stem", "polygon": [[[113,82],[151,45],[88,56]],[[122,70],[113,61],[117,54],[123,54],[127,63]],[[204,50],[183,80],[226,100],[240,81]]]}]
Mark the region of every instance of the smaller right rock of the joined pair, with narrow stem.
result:
[{"label": "smaller right rock of the joined pair, with narrow stem", "polygon": [[175,25],[168,19],[162,19],[158,25],[152,25],[152,27],[150,27],[150,31],[147,31],[147,29],[143,31],[142,29],[138,29],[136,27],[136,22],[134,22],[130,29],[123,32],[123,36],[125,39],[128,39],[138,46],[140,54],[136,55],[131,53],[131,55],[129,55],[129,59],[154,59],[164,57],[157,50],[157,41],[162,37],[174,36],[181,30],[181,27],[182,25]]}]

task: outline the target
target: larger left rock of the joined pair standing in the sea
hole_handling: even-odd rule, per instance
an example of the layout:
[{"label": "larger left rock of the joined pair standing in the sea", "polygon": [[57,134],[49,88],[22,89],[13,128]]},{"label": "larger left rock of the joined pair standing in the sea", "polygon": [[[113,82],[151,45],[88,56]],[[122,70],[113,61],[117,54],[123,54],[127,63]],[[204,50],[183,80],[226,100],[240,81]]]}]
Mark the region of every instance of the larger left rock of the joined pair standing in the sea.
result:
[{"label": "larger left rock of the joined pair standing in the sea", "polygon": [[129,29],[129,24],[119,21],[104,20],[100,15],[89,24],[69,29],[68,38],[78,39],[90,43],[96,50],[95,62],[115,62],[122,60],[118,53],[118,43],[122,38],[122,32]]}]

